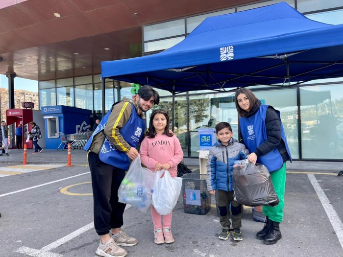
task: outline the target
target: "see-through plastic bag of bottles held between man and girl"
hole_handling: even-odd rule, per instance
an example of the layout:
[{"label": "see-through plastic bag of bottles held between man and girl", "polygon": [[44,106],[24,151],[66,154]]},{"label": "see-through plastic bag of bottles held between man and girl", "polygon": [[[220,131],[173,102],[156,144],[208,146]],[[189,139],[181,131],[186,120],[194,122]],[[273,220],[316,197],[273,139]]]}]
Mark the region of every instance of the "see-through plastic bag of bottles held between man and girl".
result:
[{"label": "see-through plastic bag of bottles held between man and girl", "polygon": [[[163,171],[159,172],[160,176],[162,173]],[[151,205],[151,195],[156,179],[155,172],[142,167],[141,158],[138,156],[132,161],[118,189],[118,201],[147,212]]]}]

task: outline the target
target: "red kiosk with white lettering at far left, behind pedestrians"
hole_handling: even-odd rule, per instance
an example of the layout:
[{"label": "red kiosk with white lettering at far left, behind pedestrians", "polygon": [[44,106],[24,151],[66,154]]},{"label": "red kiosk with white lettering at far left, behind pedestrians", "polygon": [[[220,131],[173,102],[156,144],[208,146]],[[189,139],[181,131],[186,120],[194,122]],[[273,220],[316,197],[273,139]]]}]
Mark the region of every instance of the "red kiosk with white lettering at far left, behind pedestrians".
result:
[{"label": "red kiosk with white lettering at far left, behind pedestrians", "polygon": [[[39,110],[32,109],[9,109],[6,111],[6,121],[7,125],[15,125],[17,127],[19,123],[23,124],[23,148],[26,143],[27,134],[26,131],[31,131],[32,127],[28,124],[31,121],[37,123],[37,125],[42,129],[44,126],[44,119]],[[45,147],[45,139],[39,140],[39,145]],[[32,140],[26,143],[27,149],[33,148]],[[15,147],[15,144],[14,144]],[[13,147],[12,147],[13,148]]]}]

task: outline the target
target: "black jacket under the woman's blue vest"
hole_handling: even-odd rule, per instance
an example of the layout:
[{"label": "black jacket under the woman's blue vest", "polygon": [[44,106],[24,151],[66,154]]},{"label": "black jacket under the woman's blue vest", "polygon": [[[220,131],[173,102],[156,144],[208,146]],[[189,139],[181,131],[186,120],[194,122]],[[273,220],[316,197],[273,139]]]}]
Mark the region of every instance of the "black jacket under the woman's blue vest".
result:
[{"label": "black jacket under the woman's blue vest", "polygon": [[[252,108],[251,112],[248,113],[245,117],[253,116],[260,109],[260,106],[261,101],[258,100],[255,106]],[[283,162],[290,160],[290,157],[288,156],[286,150],[285,142],[281,139],[280,119],[272,106],[268,107],[266,113],[266,132],[267,140],[260,144],[254,152],[257,157],[265,155],[276,148],[279,150]],[[242,139],[242,135],[240,135],[240,138]],[[241,140],[241,142],[243,142],[243,139]]]}]

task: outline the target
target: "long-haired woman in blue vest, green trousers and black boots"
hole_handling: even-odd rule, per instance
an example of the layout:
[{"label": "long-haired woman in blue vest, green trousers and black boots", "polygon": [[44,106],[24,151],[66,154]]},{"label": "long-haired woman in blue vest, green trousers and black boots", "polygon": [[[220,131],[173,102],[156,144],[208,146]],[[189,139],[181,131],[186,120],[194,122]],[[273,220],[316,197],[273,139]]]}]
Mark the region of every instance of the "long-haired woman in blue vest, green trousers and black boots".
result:
[{"label": "long-haired woman in blue vest, green trousers and black boots", "polygon": [[280,112],[261,104],[251,90],[244,88],[236,92],[236,108],[241,117],[241,139],[251,153],[247,159],[268,168],[280,200],[276,207],[263,206],[267,220],[264,228],[256,234],[256,238],[265,244],[275,244],[281,239],[279,223],[283,220],[286,161],[292,162]]}]

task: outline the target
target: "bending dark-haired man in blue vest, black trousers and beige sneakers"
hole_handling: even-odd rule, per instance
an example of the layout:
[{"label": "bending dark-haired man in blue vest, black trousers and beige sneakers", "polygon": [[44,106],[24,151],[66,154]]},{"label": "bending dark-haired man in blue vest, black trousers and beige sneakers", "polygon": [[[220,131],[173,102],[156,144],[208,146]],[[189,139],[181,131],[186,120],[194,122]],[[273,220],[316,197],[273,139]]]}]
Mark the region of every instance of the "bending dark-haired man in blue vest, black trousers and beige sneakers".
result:
[{"label": "bending dark-haired man in blue vest, black trousers and beige sneakers", "polygon": [[138,242],[121,230],[126,205],[118,202],[118,189],[130,159],[139,155],[136,147],[146,131],[143,113],[159,101],[159,94],[150,86],[141,87],[132,99],[124,97],[101,119],[84,147],[89,151],[99,256],[124,257],[127,252],[118,245],[133,246]]}]

